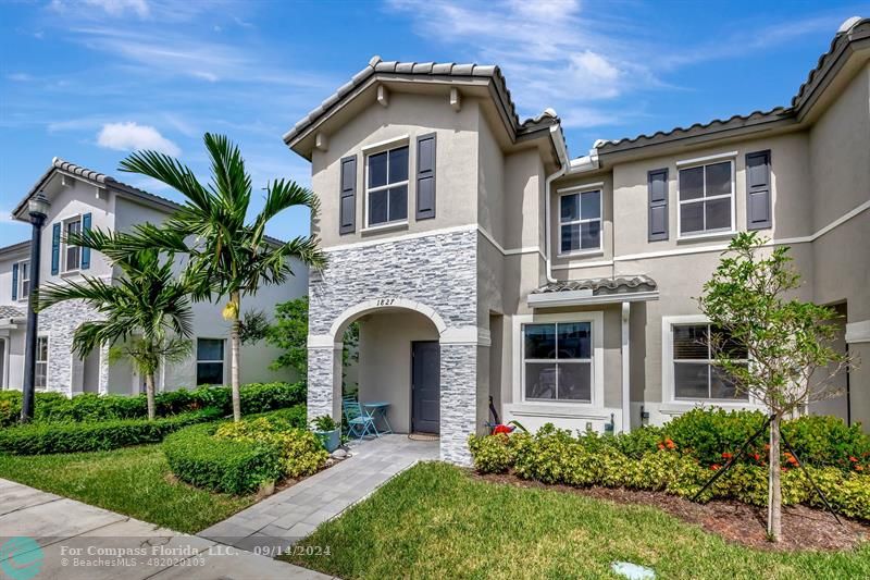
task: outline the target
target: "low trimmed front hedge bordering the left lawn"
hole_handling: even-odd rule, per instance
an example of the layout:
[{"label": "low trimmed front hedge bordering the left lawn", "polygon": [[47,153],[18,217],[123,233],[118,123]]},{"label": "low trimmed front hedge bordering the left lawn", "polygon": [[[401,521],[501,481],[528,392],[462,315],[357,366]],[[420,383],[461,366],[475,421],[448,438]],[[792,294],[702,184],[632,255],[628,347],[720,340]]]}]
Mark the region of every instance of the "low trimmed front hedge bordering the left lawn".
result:
[{"label": "low trimmed front hedge bordering the left lawn", "polygon": [[98,452],[128,445],[159,443],[173,431],[195,423],[213,421],[222,415],[215,409],[206,409],[153,421],[114,419],[11,427],[0,430],[0,451],[15,455],[41,455]]}]

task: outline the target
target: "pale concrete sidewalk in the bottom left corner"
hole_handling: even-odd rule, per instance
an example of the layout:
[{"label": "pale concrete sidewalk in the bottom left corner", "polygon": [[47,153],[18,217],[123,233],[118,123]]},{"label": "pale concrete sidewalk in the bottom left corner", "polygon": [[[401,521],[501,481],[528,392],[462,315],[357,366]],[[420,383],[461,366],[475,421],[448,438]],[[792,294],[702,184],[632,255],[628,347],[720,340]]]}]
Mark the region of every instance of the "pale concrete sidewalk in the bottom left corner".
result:
[{"label": "pale concrete sidewalk in the bottom left corner", "polygon": [[330,577],[0,479],[0,578],[327,580]]}]

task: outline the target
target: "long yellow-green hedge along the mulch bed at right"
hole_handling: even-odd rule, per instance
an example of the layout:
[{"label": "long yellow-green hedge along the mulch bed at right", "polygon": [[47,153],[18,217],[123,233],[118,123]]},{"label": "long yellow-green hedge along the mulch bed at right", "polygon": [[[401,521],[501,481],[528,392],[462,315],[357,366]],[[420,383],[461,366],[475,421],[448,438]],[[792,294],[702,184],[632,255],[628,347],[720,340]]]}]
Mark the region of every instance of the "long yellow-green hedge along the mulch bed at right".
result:
[{"label": "long yellow-green hedge along the mulch bed at right", "polygon": [[[643,437],[648,435],[644,433]],[[693,497],[714,471],[721,469],[720,464],[704,466],[670,437],[659,443],[662,448],[656,444],[655,451],[639,457],[632,457],[619,448],[621,444],[633,441],[629,435],[622,437],[620,444],[617,439],[593,434],[574,436],[547,424],[535,435],[472,435],[469,447],[475,469],[484,473],[512,471],[520,478],[543,483],[664,491],[683,497]],[[865,474],[862,465],[856,465],[861,470],[811,466],[807,469],[836,511],[870,521],[870,476]],[[732,498],[766,505],[767,478],[765,466],[736,464],[700,499]],[[813,493],[804,471],[794,466],[785,467],[783,471],[782,491],[785,505],[821,506],[821,499]]]}]

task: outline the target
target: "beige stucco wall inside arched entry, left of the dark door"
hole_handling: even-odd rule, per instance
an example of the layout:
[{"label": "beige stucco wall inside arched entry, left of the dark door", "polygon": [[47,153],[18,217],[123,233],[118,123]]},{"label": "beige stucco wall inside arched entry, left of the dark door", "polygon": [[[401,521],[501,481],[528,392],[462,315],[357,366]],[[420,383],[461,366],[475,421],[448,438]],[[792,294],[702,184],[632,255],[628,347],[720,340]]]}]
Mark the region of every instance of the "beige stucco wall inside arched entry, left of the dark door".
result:
[{"label": "beige stucco wall inside arched entry, left of the dark door", "polygon": [[387,419],[398,433],[411,428],[411,343],[437,340],[435,325],[419,313],[360,320],[359,399],[388,400]]}]

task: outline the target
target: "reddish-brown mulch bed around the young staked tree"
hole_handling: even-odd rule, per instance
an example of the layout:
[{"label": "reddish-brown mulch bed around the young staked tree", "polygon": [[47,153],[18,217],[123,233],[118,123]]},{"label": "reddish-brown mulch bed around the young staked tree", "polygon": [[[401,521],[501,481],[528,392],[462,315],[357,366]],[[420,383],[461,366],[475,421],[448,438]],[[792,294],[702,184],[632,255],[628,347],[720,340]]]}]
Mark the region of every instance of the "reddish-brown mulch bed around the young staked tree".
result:
[{"label": "reddish-brown mulch bed around the young staked tree", "polygon": [[807,506],[786,506],[782,514],[782,535],[780,543],[767,539],[767,508],[750,506],[735,501],[716,499],[707,504],[696,504],[664,492],[646,492],[622,488],[571,488],[570,485],[548,485],[527,481],[513,474],[480,474],[472,472],[474,479],[514,485],[575,493],[587,497],[606,499],[617,504],[652,506],[688,523],[700,526],[705,531],[716,533],[735,544],[774,551],[850,550],[870,540],[870,526],[840,516],[838,525],[834,517],[820,509]]}]

